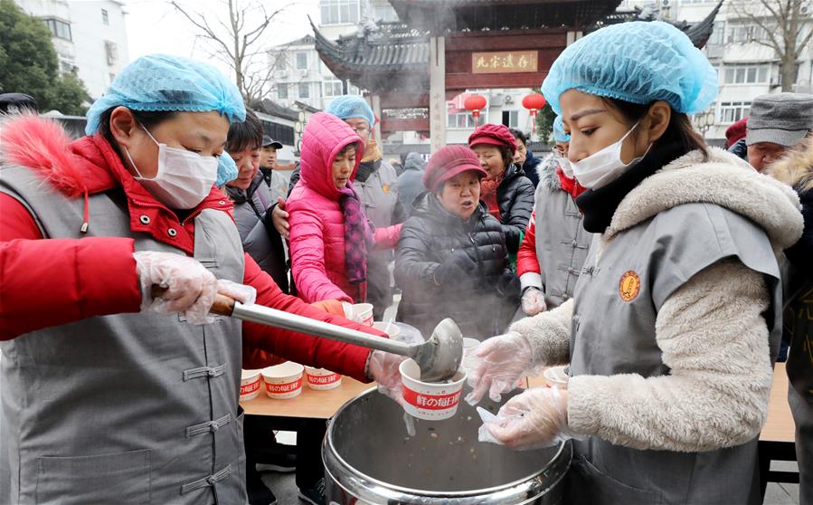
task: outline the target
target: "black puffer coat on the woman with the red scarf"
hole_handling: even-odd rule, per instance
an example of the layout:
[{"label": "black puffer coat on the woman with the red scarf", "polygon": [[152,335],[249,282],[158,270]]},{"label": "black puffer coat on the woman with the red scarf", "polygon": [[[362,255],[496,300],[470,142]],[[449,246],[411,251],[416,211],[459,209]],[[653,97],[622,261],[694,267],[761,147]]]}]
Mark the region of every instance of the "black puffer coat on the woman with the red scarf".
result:
[{"label": "black puffer coat on the woman with the red scarf", "polygon": [[500,209],[508,252],[515,254],[534,210],[534,185],[523,169],[513,163],[506,168],[503,182],[496,188],[496,205]]}]

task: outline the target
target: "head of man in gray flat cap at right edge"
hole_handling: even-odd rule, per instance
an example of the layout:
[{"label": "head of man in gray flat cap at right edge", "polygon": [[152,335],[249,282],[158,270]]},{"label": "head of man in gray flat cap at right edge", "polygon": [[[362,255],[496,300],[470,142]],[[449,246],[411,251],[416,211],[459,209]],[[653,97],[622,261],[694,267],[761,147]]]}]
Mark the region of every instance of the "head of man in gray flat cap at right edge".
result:
[{"label": "head of man in gray flat cap at right edge", "polygon": [[813,95],[776,93],[753,99],[748,118],[748,162],[761,172],[813,130]]}]

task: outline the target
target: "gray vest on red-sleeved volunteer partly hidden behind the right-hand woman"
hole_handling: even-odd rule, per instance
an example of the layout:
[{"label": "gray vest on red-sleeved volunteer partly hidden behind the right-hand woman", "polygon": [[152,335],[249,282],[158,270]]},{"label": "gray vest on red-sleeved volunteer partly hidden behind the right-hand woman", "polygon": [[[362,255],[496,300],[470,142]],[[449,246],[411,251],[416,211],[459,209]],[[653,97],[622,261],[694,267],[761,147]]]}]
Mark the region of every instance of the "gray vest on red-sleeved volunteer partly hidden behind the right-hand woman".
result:
[{"label": "gray vest on red-sleeved volunteer partly hidden behind the right-hand woman", "polygon": [[579,207],[555,172],[540,177],[534,202],[536,259],[550,310],[573,297],[593,234],[584,230]]}]

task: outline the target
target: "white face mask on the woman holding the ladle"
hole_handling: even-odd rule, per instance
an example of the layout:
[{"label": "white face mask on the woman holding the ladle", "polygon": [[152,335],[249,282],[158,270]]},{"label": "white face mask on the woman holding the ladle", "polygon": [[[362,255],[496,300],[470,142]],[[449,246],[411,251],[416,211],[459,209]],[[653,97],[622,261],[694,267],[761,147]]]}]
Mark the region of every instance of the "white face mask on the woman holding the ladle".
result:
[{"label": "white face mask on the woman holding the ladle", "polygon": [[217,180],[217,158],[203,157],[185,149],[169,148],[166,144],[159,144],[146,128],[141,128],[158,146],[158,172],[151,179],[141,176],[127,148],[124,148],[138,174],[134,178],[159,202],[170,208],[192,209],[203,202]]}]

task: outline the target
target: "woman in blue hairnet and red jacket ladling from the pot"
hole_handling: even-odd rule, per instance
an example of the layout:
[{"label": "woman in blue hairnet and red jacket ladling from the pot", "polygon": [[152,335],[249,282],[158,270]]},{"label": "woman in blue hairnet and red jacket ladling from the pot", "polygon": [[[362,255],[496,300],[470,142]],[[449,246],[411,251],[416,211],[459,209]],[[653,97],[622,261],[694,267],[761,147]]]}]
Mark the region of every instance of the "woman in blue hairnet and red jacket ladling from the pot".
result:
[{"label": "woman in blue hairnet and red jacket ladling from the pot", "polygon": [[87,137],[5,119],[0,503],[245,503],[244,351],[400,381],[399,357],[207,316],[216,293],[256,295],[365,330],[283,294],[242,251],[213,184],[244,118],[220,71],[151,55],[93,104]]}]

